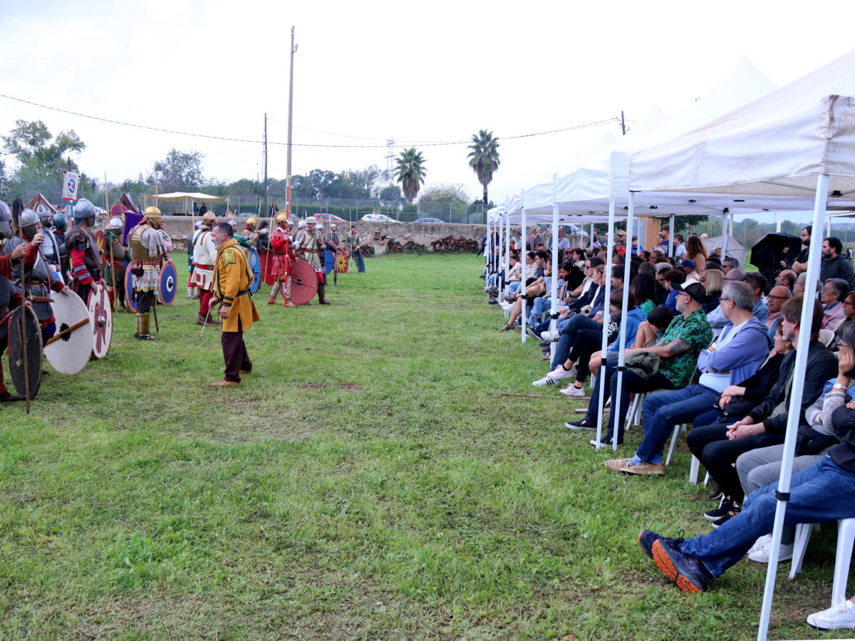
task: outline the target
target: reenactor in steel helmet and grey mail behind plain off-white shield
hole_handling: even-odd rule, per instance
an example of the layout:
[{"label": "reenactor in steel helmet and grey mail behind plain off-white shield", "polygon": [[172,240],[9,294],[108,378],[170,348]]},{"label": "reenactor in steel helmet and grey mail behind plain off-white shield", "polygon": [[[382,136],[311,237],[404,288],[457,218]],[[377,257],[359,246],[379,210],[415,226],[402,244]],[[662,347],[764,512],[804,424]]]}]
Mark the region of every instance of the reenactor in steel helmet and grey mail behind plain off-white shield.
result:
[{"label": "reenactor in steel helmet and grey mail behind plain off-white shield", "polygon": [[[18,234],[9,238],[3,246],[3,253],[9,256],[10,262],[10,278],[13,287],[11,301],[13,303],[17,301],[15,304],[20,304],[25,291],[27,297],[36,298],[32,302],[32,311],[36,313],[42,327],[42,338],[47,340],[56,333],[56,319],[53,309],[50,309],[50,303],[44,299],[50,297],[50,291],[68,295],[69,289],[44,260],[41,250],[44,234],[39,231],[36,212],[32,209],[24,209],[18,224]],[[21,259],[21,250],[17,249],[22,245],[26,245],[23,259]],[[21,280],[21,260],[24,261],[23,280]]]}]

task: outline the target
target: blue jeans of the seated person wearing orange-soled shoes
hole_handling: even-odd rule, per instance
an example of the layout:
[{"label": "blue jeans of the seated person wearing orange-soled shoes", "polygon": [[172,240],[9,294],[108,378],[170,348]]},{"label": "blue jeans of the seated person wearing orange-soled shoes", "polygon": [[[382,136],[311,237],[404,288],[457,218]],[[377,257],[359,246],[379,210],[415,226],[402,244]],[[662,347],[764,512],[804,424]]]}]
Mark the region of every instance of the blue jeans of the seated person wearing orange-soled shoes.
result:
[{"label": "blue jeans of the seated person wearing orange-soled shoes", "polygon": [[[734,565],[764,534],[772,532],[777,499],[772,493],[777,483],[753,491],[740,514],[721,527],[698,538],[687,538],[681,551],[703,562],[714,579]],[[784,525],[823,523],[855,517],[855,474],[841,468],[829,456],[816,465],[794,474]]]}]

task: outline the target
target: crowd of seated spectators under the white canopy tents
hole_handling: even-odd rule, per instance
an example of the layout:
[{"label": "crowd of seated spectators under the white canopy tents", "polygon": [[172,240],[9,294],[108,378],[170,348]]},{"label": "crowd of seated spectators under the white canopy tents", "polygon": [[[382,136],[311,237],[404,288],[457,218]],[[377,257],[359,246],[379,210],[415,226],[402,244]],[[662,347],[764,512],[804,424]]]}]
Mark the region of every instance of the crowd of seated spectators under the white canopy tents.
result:
[{"label": "crowd of seated spectators under the white canopy tents", "polygon": [[[524,275],[512,252],[508,282],[502,269],[489,273],[488,264],[485,291],[488,303],[507,312],[500,331],[521,331],[525,323],[528,335],[539,340],[540,355],[550,361],[532,385],[562,388],[566,383],[560,389],[565,396],[588,399],[585,416],[566,427],[597,429],[602,387],[611,404],[604,440],[620,446],[630,399],[643,395],[640,443],[628,456],[605,462],[611,473],[634,477],[666,473],[664,444],[675,426],[692,427],[688,448],[715,484],[710,499],[716,507],[704,514],[711,532],[685,539],[648,530],[639,535],[641,549],[682,590],[705,590],[746,555],[769,562],[773,491],[791,412],[798,412],[799,428],[779,560],[793,556],[794,525],[855,517],[855,502],[849,500],[855,490],[855,271],[840,238],[823,239],[817,291],[807,291],[810,226],[802,232],[805,250],[781,263],[769,279],[746,272],[732,256],[722,258],[721,250],[708,252],[697,234],[675,233],[672,243],[663,227],[657,244],[646,251],[637,237],[628,242],[626,232],[617,232],[608,301],[605,241],[593,238],[586,249],[559,243],[554,248],[561,252],[554,317],[553,248],[544,246],[538,228],[528,239],[536,245],[525,248]],[[627,262],[629,281],[624,283]],[[813,314],[803,327],[805,296],[813,300]],[[621,344],[624,301],[627,326]],[[810,334],[807,368],[802,396],[793,399],[801,332]],[[600,349],[604,338],[605,352]],[[621,350],[626,368],[618,376]],[[855,627],[855,603],[836,604],[811,615],[809,622]]]}]

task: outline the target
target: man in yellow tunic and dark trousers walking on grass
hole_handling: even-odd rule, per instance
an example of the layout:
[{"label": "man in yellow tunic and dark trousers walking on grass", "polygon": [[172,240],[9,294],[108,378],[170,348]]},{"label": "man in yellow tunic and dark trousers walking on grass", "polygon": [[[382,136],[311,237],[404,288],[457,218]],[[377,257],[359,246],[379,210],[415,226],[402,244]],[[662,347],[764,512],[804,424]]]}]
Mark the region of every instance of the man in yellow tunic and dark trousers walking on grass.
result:
[{"label": "man in yellow tunic and dark trousers walking on grass", "polygon": [[211,383],[212,387],[239,385],[240,374],[252,370],[252,361],[246,353],[244,330],[254,321],[261,321],[256,303],[252,300],[250,286],[252,272],[246,263],[238,241],[234,239],[232,226],[227,222],[217,223],[211,231],[216,250],[214,264],[214,297],[210,307],[220,304],[222,319],[222,357],[226,362],[226,375],[222,380]]}]

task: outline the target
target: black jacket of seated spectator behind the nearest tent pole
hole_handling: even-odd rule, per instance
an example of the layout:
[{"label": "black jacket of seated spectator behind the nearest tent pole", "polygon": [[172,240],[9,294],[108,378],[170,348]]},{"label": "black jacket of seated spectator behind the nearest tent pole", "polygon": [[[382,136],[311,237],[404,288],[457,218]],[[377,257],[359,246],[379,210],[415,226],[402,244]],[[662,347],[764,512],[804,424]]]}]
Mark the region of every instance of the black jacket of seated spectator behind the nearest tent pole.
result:
[{"label": "black jacket of seated spectator behind the nearest tent pole", "polygon": [[[756,408],[748,413],[754,419],[755,423],[763,422],[766,432],[769,434],[783,434],[787,432],[787,412],[782,412],[777,416],[772,416],[772,412],[784,399],[784,392],[787,387],[793,384],[790,380],[790,373],[793,371],[796,363],[796,350],[790,351],[787,356],[784,356],[781,362],[781,373],[778,375],[778,382],[769,391],[769,395],[764,398]],[[833,379],[837,375],[837,359],[834,358],[828,348],[818,340],[811,340],[808,347],[807,368],[805,368],[805,387],[801,398],[801,409],[799,410],[799,424],[805,423],[805,409],[811,407],[811,404],[819,398],[823,393],[823,387],[828,379]],[[791,407],[790,401],[792,398],[787,398],[787,409]]]}]

